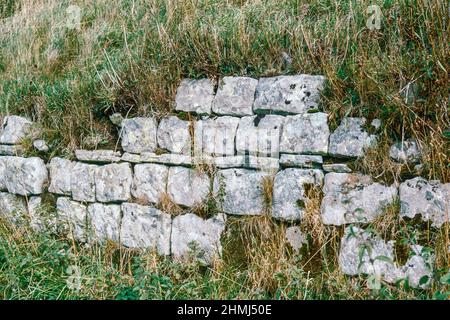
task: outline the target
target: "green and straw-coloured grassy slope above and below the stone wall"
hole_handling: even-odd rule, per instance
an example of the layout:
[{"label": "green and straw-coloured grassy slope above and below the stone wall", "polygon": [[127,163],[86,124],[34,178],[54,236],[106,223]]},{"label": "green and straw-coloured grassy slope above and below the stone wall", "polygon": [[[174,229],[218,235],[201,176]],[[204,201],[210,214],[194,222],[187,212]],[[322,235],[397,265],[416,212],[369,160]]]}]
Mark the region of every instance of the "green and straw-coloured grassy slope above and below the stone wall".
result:
[{"label": "green and straw-coloured grassy slope above and below the stone wall", "polygon": [[[448,182],[448,4],[375,2],[382,8],[382,28],[369,31],[365,10],[373,1],[78,0],[70,3],[82,8],[81,29],[68,30],[69,1],[8,0],[0,6],[0,111],[33,118],[53,153],[67,155],[80,146],[115,145],[112,112],[169,113],[183,77],[324,74],[329,81],[323,109],[333,126],[345,115],[384,122],[379,147],[356,163],[360,170],[398,179],[408,168],[395,166],[386,148],[393,140],[414,137],[424,149],[423,175]],[[282,52],[292,57],[292,65],[284,65]],[[412,104],[401,94],[409,83],[419,88]],[[317,205],[309,212],[303,223],[312,233],[306,259],[286,252],[284,226],[255,218],[235,227],[245,229],[247,243],[252,239],[259,245],[206,270],[157,263],[151,254],[80,249],[46,235],[11,233],[2,224],[0,295],[370,297],[367,289],[359,291],[363,280],[349,280],[336,270],[342,230],[324,228]],[[435,248],[440,274],[448,270],[448,227],[436,232],[420,226],[413,234],[395,212],[374,224],[377,230],[386,238]],[[226,252],[235,251],[239,241],[234,242]],[[87,277],[81,292],[67,289],[69,264],[79,265]],[[374,294],[429,298],[443,290],[438,284],[428,292],[385,286]]]}]

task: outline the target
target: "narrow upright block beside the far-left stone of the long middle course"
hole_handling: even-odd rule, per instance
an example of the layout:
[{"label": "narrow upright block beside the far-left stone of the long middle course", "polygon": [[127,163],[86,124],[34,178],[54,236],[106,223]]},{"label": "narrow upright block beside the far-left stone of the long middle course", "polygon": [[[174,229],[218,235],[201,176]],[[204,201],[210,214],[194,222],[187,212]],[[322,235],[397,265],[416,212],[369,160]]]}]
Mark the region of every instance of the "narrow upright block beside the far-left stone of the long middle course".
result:
[{"label": "narrow upright block beside the far-left stone of the long middle course", "polygon": [[49,192],[68,196],[72,194],[71,176],[74,165],[74,162],[62,158],[53,158],[50,161],[48,165],[50,173]]}]

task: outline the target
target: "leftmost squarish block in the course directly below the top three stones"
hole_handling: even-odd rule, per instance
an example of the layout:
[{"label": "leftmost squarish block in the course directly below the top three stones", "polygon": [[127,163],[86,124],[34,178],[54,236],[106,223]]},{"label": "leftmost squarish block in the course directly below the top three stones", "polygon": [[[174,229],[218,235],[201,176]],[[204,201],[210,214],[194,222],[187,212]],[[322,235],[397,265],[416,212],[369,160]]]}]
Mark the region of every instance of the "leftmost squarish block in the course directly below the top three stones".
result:
[{"label": "leftmost squarish block in the course directly below the top three stones", "polygon": [[157,123],[154,118],[132,118],[122,121],[122,148],[125,152],[154,152],[157,147]]}]

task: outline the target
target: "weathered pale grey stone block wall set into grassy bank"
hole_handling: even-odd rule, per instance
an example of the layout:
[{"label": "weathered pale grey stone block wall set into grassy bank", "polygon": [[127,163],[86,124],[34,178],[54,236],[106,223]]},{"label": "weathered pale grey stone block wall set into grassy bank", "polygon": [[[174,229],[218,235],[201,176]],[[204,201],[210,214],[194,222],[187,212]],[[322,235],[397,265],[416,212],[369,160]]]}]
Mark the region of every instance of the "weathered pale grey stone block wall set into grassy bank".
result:
[{"label": "weathered pale grey stone block wall set into grassy bank", "polygon": [[[353,225],[373,221],[399,198],[402,217],[420,215],[439,228],[449,219],[450,184],[417,177],[389,186],[353,173],[345,162],[377,143],[380,122],[344,118],[331,132],[328,115],[319,109],[324,81],[310,75],[225,77],[215,90],[208,79],[186,79],[173,115],[114,115],[121,150],[77,150],[74,160],[55,157],[47,164],[20,157],[20,142],[33,136],[33,124],[5,117],[0,212],[16,223],[29,217],[37,230],[52,228],[81,242],[112,240],[179,259],[195,252],[210,263],[220,255],[227,215],[268,213],[295,224],[310,201],[306,189],[316,186],[323,191],[322,222],[352,224],[339,257],[344,273],[382,275],[391,282],[409,277],[415,286],[429,285],[417,280],[432,270],[421,248],[413,248],[414,261],[405,266],[377,260],[376,255],[393,257],[392,243]],[[42,140],[34,147],[48,151]],[[392,146],[390,156],[417,164],[419,153],[417,143],[404,141]],[[271,188],[264,188],[267,183]],[[47,192],[57,197],[53,216],[44,215],[49,210],[41,205]],[[203,219],[193,212],[208,199],[219,213]],[[161,210],[164,202],[176,206],[178,215]],[[359,249],[367,243],[374,249],[360,263]]]}]

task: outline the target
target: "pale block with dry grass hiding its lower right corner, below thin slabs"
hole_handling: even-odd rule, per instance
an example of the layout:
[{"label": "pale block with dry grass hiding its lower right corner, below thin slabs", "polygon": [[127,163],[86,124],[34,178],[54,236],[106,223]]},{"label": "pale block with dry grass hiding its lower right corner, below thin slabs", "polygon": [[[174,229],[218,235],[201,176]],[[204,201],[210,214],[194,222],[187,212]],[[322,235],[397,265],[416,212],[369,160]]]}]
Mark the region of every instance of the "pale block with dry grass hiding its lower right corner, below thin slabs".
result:
[{"label": "pale block with dry grass hiding its lower right corner, below thin slabs", "polygon": [[286,221],[301,220],[309,201],[305,185],[320,187],[322,183],[321,170],[289,168],[278,172],[273,185],[272,215]]}]

